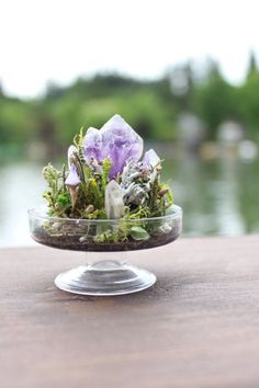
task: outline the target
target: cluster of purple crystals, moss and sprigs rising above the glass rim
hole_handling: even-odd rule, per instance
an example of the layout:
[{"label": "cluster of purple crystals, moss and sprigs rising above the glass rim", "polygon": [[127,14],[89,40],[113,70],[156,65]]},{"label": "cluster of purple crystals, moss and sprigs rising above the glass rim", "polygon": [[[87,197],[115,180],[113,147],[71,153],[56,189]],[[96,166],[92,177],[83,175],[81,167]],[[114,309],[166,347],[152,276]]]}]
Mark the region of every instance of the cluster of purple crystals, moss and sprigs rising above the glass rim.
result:
[{"label": "cluster of purple crystals, moss and sprigs rising above the glass rim", "polygon": [[161,161],[150,149],[142,158],[143,139],[120,116],[101,129],[90,127],[68,149],[68,171],[48,164],[44,197],[49,215],[61,218],[139,219],[166,214],[172,204],[160,183]]}]

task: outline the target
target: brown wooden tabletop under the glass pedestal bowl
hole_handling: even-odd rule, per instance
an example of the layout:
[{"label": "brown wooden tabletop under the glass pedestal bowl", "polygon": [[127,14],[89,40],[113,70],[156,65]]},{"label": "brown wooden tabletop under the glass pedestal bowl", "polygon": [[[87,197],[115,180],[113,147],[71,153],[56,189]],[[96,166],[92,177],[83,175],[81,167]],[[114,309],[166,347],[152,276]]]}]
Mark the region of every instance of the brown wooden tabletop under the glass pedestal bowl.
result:
[{"label": "brown wooden tabletop under the glass pedestal bowl", "polygon": [[0,256],[2,388],[259,387],[259,236],[130,253],[158,282],[117,297],[55,288],[83,253]]}]

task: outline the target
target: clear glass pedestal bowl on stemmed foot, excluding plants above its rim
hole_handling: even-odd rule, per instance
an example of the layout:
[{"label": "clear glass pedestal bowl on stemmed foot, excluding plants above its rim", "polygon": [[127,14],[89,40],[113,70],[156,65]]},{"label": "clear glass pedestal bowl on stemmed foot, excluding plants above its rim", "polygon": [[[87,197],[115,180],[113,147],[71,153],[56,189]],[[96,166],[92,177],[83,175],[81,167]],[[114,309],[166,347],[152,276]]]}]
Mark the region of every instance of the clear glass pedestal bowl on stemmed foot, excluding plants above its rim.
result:
[{"label": "clear glass pedestal bowl on stemmed foot, excluding plants above its rim", "polygon": [[[167,215],[154,218],[72,219],[48,216],[46,208],[38,207],[29,210],[29,221],[32,238],[41,244],[100,252],[97,261],[59,274],[55,278],[58,288],[82,295],[122,295],[156,282],[153,273],[127,264],[125,252],[174,241],[182,229],[182,209],[172,205]],[[121,252],[119,260],[115,252]]]}]

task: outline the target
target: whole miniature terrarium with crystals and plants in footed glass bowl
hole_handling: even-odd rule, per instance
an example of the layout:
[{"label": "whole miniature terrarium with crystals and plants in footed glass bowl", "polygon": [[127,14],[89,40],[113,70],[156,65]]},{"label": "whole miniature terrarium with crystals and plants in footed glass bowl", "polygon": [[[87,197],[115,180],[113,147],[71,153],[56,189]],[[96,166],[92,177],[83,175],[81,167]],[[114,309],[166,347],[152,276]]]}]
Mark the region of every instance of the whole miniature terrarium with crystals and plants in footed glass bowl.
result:
[{"label": "whole miniature terrarium with crystals and plants in footed glass bowl", "polygon": [[[58,249],[103,252],[58,275],[60,289],[86,295],[117,295],[145,289],[156,276],[125,262],[125,251],[160,247],[181,232],[182,212],[160,180],[155,150],[143,156],[143,139],[120,116],[101,129],[74,138],[67,164],[43,169],[46,208],[29,210],[35,241]],[[114,252],[105,260],[106,252]],[[117,253],[121,260],[116,261]],[[111,254],[110,254],[111,256]]]}]

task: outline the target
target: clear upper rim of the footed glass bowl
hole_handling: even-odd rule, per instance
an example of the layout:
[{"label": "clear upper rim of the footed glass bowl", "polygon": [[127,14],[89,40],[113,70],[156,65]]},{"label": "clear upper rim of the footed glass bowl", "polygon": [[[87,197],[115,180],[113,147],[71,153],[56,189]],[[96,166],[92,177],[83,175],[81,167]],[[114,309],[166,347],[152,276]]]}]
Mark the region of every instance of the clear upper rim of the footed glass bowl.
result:
[{"label": "clear upper rim of the footed glass bowl", "polygon": [[40,206],[40,207],[33,207],[27,210],[29,217],[31,219],[45,219],[45,220],[50,220],[50,221],[67,221],[67,222],[86,222],[86,224],[103,224],[103,222],[114,222],[117,224],[121,220],[124,220],[126,222],[136,222],[137,221],[159,221],[159,220],[167,220],[167,219],[177,219],[179,217],[182,217],[182,208],[178,205],[172,205],[168,208],[168,210],[172,210],[172,213],[167,214],[165,216],[159,216],[159,217],[147,217],[147,218],[136,218],[136,219],[127,219],[127,218],[106,218],[106,219],[87,219],[87,218],[63,218],[63,217],[52,217],[46,214],[47,207],[45,206]]}]

